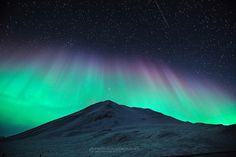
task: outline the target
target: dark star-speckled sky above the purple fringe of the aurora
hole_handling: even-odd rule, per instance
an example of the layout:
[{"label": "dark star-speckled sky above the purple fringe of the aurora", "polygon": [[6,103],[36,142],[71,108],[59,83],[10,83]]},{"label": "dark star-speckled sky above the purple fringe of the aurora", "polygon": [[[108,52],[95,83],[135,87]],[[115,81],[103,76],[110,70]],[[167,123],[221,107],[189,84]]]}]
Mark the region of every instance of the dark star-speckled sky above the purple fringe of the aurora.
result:
[{"label": "dark star-speckled sky above the purple fringe of the aurora", "polygon": [[156,2],[161,10],[152,0],[5,1],[1,43],[145,56],[227,86],[235,84],[233,1]]}]

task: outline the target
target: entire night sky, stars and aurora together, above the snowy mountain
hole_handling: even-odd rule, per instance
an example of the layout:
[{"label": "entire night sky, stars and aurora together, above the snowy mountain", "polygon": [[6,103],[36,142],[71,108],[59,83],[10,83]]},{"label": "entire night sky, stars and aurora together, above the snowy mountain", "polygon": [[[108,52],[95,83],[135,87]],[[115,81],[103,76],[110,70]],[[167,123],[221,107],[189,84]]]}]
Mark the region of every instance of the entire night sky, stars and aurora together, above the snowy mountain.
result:
[{"label": "entire night sky, stars and aurora together, above the snowy mountain", "polygon": [[104,100],[236,124],[234,3],[1,2],[0,137]]}]

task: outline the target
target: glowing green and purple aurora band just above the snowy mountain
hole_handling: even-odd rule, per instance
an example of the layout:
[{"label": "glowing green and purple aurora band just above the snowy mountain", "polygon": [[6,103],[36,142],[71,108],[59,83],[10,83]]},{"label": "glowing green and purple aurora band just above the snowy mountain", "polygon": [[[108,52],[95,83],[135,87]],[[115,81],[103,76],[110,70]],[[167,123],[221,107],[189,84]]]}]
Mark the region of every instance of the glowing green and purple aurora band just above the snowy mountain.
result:
[{"label": "glowing green and purple aurora band just above the snowy mountain", "polygon": [[220,85],[141,59],[129,62],[65,52],[11,57],[0,64],[0,89],[5,133],[108,99],[184,121],[236,123],[236,100]]}]

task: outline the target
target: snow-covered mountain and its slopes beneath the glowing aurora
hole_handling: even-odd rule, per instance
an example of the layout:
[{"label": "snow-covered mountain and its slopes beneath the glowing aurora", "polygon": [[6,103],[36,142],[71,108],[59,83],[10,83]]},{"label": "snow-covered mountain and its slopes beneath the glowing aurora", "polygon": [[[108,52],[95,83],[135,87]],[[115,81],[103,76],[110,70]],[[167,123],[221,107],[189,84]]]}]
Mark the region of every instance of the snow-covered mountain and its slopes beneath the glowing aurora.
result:
[{"label": "snow-covered mountain and its slopes beneath the glowing aurora", "polygon": [[0,146],[9,156],[234,156],[236,125],[192,124],[107,100]]}]

